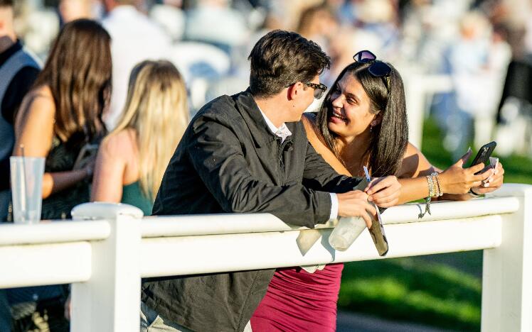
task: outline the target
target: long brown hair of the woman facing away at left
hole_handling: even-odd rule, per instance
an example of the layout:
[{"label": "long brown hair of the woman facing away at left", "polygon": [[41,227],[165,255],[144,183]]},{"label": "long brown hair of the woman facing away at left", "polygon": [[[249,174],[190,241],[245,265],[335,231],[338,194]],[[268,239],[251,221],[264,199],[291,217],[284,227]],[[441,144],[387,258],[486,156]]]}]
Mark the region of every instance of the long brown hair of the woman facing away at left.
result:
[{"label": "long brown hair of the woman facing away at left", "polygon": [[34,87],[48,86],[55,104],[54,133],[67,141],[105,134],[102,113],[111,95],[111,37],[100,23],[80,19],[65,24],[53,43]]}]

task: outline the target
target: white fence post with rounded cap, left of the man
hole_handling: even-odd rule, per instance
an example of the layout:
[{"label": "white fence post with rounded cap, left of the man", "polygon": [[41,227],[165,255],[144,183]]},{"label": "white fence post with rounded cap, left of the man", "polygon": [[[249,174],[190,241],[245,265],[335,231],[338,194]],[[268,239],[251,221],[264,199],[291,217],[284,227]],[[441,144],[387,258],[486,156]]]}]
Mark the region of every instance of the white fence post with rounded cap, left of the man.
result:
[{"label": "white fence post with rounded cap, left of the man", "polygon": [[72,285],[71,331],[139,331],[140,218],[123,204],[83,204],[74,218],[106,218],[107,240],[92,242],[92,276]]}]

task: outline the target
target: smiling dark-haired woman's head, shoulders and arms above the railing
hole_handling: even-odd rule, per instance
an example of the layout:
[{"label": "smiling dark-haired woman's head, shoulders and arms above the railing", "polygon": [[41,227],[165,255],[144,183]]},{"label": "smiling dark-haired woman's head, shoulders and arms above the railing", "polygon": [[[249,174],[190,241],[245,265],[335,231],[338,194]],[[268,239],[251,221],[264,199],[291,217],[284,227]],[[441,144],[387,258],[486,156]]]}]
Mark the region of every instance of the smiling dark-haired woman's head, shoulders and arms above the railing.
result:
[{"label": "smiling dark-haired woman's head, shoulders and arms above the railing", "polygon": [[[426,176],[434,172],[438,173],[439,194],[444,199],[469,199],[471,194],[478,196],[501,186],[501,163],[496,170],[479,175],[475,173],[483,170],[482,164],[462,168],[470,151],[443,172],[433,167],[420,150],[408,143],[400,74],[369,51],[358,52],[355,57],[358,61],[340,73],[318,116],[309,114],[304,118],[309,141],[331,166],[346,175],[362,175],[363,165],[372,177],[396,175],[402,185],[399,203],[428,197]],[[373,193],[369,190],[368,194]],[[372,199],[377,202],[378,194]]]}]

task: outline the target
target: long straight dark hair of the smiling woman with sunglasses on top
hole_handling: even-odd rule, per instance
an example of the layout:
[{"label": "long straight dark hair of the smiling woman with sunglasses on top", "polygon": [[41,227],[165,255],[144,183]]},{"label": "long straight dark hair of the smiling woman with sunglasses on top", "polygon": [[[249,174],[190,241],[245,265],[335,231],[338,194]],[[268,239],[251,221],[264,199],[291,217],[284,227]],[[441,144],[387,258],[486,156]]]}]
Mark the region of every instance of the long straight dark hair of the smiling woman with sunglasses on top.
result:
[{"label": "long straight dark hair of the smiling woman with sunglasses on top", "polygon": [[[351,74],[362,84],[370,99],[371,114],[381,112],[382,120],[374,126],[370,134],[368,150],[364,155],[369,157],[369,170],[373,177],[396,175],[400,170],[403,156],[408,145],[408,120],[406,116],[405,89],[403,79],[395,68],[390,65],[390,92],[386,88],[385,77],[374,77],[368,72],[371,64],[353,62],[342,70],[334,82],[333,87],[325,96],[317,117],[317,128],[326,145],[341,160],[336,148],[336,133],[329,130],[328,118],[332,114],[331,94],[339,80],[346,74]],[[344,160],[341,160],[346,162]]]}]

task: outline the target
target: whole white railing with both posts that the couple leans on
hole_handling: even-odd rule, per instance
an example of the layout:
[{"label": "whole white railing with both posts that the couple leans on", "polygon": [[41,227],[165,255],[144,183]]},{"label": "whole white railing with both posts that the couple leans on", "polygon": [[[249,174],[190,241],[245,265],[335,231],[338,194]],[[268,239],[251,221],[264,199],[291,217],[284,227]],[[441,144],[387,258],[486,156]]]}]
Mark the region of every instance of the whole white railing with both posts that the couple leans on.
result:
[{"label": "whole white railing with both posts that the couple leans on", "polygon": [[[419,220],[421,209],[383,214],[386,258],[484,249],[482,331],[532,331],[532,186],[434,203]],[[141,277],[380,258],[367,231],[335,252],[331,224],[308,230],[269,214],[139,218],[132,206],[95,203],[73,215],[92,220],[0,226],[0,288],[72,283],[72,331],[138,331]],[[302,255],[298,237],[318,233]]]}]

